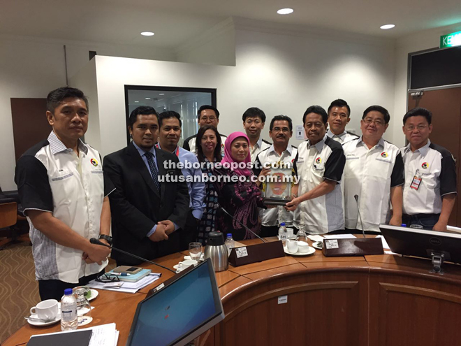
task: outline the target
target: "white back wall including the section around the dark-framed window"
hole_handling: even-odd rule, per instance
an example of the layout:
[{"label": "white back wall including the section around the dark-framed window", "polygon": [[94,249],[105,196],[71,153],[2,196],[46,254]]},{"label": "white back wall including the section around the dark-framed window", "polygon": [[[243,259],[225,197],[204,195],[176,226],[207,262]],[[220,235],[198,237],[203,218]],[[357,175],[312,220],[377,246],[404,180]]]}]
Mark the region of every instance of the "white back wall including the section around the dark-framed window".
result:
[{"label": "white back wall including the section around the dark-framed window", "polygon": [[[126,145],[124,85],[217,88],[224,134],[242,130],[242,113],[251,106],[268,116],[265,138],[274,115],[302,124],[308,106],[327,108],[337,98],[351,104],[350,128],[358,129],[361,113],[371,104],[393,112],[393,43],[252,29],[237,29],[235,42],[235,67],[96,57],[102,154]],[[392,140],[392,134],[386,138]]]}]

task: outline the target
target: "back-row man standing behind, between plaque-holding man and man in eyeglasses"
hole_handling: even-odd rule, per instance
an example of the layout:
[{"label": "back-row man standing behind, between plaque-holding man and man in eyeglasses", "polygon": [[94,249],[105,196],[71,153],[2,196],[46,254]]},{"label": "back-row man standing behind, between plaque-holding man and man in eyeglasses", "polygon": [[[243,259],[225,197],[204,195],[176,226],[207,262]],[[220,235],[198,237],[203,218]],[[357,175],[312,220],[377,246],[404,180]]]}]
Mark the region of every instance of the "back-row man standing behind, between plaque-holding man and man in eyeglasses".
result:
[{"label": "back-row man standing behind, between plaque-holding man and man in eyeglasses", "polygon": [[346,125],[351,121],[351,108],[346,101],[337,99],[328,107],[327,136],[344,144],[358,138],[356,134],[346,131]]}]

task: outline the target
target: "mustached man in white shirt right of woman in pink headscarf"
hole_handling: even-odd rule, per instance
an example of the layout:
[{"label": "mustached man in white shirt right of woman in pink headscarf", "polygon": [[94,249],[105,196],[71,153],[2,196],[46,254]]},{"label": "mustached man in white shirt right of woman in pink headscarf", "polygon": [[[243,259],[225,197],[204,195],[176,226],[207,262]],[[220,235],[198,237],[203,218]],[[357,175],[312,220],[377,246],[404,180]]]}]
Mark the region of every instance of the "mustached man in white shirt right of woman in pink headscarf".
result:
[{"label": "mustached man in white shirt right of woman in pink headscarf", "polygon": [[[291,118],[286,115],[273,117],[270,121],[269,136],[272,138],[273,144],[258,154],[256,166],[281,164],[281,166],[286,165],[288,168],[293,167],[298,149],[288,144],[291,136],[293,136]],[[255,170],[254,173],[259,175],[260,172]],[[262,237],[277,236],[281,222],[285,222],[287,227],[293,226],[293,212],[286,210],[284,206],[261,210],[259,215],[261,217]]]}]

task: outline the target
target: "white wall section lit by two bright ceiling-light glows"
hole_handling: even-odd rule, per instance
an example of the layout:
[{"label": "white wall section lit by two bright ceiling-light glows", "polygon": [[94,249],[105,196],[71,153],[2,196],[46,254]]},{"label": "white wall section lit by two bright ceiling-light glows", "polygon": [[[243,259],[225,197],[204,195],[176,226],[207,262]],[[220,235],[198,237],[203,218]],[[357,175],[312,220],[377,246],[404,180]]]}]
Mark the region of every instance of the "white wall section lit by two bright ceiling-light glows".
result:
[{"label": "white wall section lit by two bright ceiling-light glows", "polygon": [[[393,110],[392,43],[361,44],[244,30],[236,36],[237,75],[232,98],[244,102],[233,105],[232,98],[227,98],[225,106],[238,115],[249,106],[263,109],[268,116],[265,138],[274,115],[288,115],[293,126],[302,125],[308,106],[318,104],[326,110],[334,99],[349,103],[348,128],[359,134],[367,106],[380,104]],[[386,138],[391,136],[386,134]]]}]

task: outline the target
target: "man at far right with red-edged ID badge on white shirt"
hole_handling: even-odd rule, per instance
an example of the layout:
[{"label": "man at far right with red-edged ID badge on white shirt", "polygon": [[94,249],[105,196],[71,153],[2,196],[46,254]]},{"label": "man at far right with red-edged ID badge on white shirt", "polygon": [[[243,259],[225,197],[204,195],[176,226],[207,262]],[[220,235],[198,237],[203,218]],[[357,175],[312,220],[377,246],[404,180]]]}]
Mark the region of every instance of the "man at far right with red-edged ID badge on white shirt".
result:
[{"label": "man at far right with red-edged ID badge on white shirt", "polygon": [[405,164],[403,221],[407,226],[446,231],[457,194],[455,159],[429,140],[431,122],[432,113],[425,108],[414,108],[403,118],[409,141],[401,149]]}]

